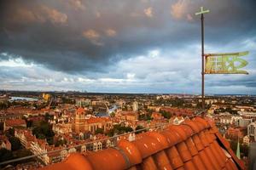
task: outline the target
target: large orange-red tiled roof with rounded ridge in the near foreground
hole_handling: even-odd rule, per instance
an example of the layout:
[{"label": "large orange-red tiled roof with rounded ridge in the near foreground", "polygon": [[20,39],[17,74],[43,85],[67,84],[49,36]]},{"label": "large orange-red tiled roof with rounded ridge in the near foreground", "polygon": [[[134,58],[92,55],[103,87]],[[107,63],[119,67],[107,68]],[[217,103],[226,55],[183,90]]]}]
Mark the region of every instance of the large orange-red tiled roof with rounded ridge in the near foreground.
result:
[{"label": "large orange-red tiled roof with rounded ridge in the near foreground", "polygon": [[84,155],[75,153],[43,170],[245,169],[212,122],[196,117],[164,131],[140,134],[133,142]]}]

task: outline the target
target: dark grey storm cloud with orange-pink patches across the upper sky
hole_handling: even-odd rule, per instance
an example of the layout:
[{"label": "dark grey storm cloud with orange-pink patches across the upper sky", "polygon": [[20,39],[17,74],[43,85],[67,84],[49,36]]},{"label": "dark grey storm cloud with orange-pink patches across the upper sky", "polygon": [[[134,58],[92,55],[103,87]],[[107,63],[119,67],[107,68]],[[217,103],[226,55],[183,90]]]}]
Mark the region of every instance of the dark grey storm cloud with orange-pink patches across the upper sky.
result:
[{"label": "dark grey storm cloud with orange-pink patches across the upper sky", "polygon": [[255,35],[255,1],[8,0],[0,8],[0,50],[59,71],[108,71],[150,48],[199,42],[201,5],[211,8],[207,42]]}]

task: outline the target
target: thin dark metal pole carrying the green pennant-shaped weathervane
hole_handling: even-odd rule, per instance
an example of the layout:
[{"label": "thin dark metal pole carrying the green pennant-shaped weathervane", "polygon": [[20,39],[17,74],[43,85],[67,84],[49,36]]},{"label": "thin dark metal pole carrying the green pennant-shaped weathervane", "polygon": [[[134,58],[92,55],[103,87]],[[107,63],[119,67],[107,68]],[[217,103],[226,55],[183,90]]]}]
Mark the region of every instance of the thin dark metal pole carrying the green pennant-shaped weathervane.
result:
[{"label": "thin dark metal pole carrying the green pennant-shaped weathervane", "polygon": [[[201,109],[205,110],[204,14],[201,14]],[[204,116],[204,113],[202,113]]]}]

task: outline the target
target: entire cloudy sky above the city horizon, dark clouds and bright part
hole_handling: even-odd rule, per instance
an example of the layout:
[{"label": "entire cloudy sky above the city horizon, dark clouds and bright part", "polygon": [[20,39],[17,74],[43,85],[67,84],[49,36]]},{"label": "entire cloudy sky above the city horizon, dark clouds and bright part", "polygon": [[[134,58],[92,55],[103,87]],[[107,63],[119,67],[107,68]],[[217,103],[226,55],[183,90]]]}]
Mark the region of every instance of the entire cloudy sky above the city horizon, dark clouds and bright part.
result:
[{"label": "entire cloudy sky above the city horizon, dark clouds and bright part", "polygon": [[3,0],[0,89],[201,92],[206,53],[249,51],[249,75],[207,75],[207,94],[256,94],[255,0]]}]

